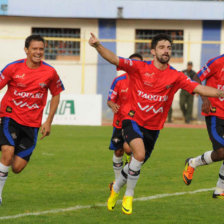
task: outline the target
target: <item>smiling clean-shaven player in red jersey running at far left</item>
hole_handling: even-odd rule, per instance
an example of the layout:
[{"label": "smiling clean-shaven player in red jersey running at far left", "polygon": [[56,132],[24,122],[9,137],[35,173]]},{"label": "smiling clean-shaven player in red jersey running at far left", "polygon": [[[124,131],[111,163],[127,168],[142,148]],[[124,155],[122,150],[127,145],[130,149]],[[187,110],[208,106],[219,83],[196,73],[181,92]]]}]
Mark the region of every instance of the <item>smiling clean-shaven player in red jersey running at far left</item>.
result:
[{"label": "smiling clean-shaven player in red jersey running at far left", "polygon": [[0,204],[9,167],[20,173],[36,146],[48,90],[52,98],[48,118],[40,128],[41,139],[50,134],[60,93],[64,90],[55,69],[41,60],[44,45],[39,35],[27,37],[26,59],[8,64],[0,74],[0,89],[8,87],[0,107]]}]

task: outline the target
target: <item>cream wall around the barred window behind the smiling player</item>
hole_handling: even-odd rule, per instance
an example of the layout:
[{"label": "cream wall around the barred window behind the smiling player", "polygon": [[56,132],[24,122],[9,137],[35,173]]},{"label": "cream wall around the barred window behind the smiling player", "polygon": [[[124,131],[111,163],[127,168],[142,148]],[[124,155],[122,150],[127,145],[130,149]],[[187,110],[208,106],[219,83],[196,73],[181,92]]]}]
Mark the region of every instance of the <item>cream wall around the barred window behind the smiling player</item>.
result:
[{"label": "cream wall around the barred window behind the smiling player", "polygon": [[[57,18],[31,18],[31,17],[1,17],[0,19],[0,68],[6,64],[25,58],[25,38],[31,34],[32,27],[65,27],[80,28],[81,37],[89,38],[90,32],[97,34],[98,21],[90,19],[57,19]],[[83,44],[81,46],[83,48]],[[88,44],[85,44],[86,66],[84,67],[84,93],[96,93],[96,62],[97,54],[90,51]],[[82,83],[82,60],[77,61],[54,61],[46,60],[59,73],[64,86],[65,93],[81,93]]]}]

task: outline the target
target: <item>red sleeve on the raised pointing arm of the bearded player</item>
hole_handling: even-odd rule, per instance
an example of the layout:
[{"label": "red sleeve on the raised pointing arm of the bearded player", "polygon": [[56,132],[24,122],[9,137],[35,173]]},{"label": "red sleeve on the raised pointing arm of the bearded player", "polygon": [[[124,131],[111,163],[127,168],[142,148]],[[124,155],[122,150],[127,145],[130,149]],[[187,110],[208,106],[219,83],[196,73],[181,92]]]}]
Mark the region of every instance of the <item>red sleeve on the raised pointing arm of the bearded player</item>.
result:
[{"label": "red sleeve on the raised pointing arm of the bearded player", "polygon": [[126,71],[130,76],[133,76],[139,73],[141,65],[142,61],[119,57],[117,69]]}]

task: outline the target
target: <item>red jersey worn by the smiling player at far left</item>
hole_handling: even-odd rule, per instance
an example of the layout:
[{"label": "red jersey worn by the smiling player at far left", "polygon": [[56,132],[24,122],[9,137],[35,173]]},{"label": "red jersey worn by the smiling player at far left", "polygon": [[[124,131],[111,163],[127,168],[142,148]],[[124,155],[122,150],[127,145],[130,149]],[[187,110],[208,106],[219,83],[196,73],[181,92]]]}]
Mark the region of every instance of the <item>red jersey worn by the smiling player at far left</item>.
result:
[{"label": "red jersey worn by the smiling player at far left", "polygon": [[0,89],[8,90],[1,101],[0,117],[10,117],[29,127],[40,127],[48,89],[53,96],[64,90],[53,67],[41,61],[40,67],[31,69],[26,59],[8,64],[0,74]]}]

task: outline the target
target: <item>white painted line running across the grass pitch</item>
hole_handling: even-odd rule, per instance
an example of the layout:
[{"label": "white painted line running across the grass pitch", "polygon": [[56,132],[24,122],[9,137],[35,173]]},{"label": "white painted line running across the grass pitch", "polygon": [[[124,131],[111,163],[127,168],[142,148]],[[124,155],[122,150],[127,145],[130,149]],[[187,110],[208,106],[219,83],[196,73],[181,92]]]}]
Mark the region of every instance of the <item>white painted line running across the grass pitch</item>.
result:
[{"label": "white painted line running across the grass pitch", "polygon": [[[171,193],[171,194],[157,194],[149,197],[141,197],[141,198],[135,198],[134,201],[149,201],[153,199],[158,199],[158,198],[165,198],[165,197],[172,197],[172,196],[180,196],[180,195],[185,195],[185,194],[197,194],[201,192],[207,192],[207,191],[212,191],[215,188],[205,188],[205,189],[198,189],[195,191],[185,191],[185,192],[176,192],[176,193]],[[121,203],[122,201],[119,200],[118,203]],[[61,213],[61,212],[70,212],[70,211],[77,211],[80,209],[89,209],[93,207],[106,207],[107,203],[98,203],[94,205],[77,205],[74,207],[70,208],[59,208],[59,209],[52,209],[52,210],[46,210],[46,211],[41,211],[41,212],[29,212],[29,213],[22,213],[18,215],[11,215],[11,216],[2,216],[0,217],[0,220],[5,220],[5,219],[17,219],[21,217],[26,217],[26,216],[39,216],[39,215],[46,215],[46,214],[56,214],[56,213]]]}]

